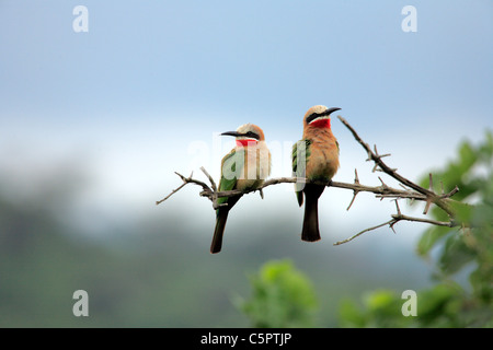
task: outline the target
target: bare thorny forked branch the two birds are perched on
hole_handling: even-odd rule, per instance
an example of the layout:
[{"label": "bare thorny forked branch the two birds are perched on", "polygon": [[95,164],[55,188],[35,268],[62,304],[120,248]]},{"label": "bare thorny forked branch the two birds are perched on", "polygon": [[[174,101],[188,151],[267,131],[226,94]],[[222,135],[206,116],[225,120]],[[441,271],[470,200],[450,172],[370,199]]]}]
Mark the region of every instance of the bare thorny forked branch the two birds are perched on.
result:
[{"label": "bare thorny forked branch the two birds are perched on", "polygon": [[[368,231],[372,231],[372,230],[376,230],[376,229],[379,229],[379,228],[382,228],[386,225],[389,225],[389,228],[392,229],[392,231],[394,231],[393,226],[399,221],[423,222],[423,223],[428,223],[428,224],[433,224],[433,225],[440,225],[440,226],[448,226],[448,228],[454,228],[454,226],[460,225],[460,223],[455,220],[455,211],[452,210],[452,207],[450,206],[450,203],[454,202],[454,200],[450,199],[450,197],[452,197],[455,194],[457,194],[459,191],[459,188],[457,186],[448,194],[444,194],[444,190],[442,189],[442,194],[438,195],[433,190],[432,174],[429,174],[429,187],[428,188],[423,188],[420,185],[411,182],[410,179],[400,175],[397,172],[397,168],[392,168],[392,167],[388,166],[382,161],[382,158],[389,156],[390,154],[379,154],[378,150],[377,150],[377,145],[374,145],[374,150],[371,150],[371,148],[368,145],[368,143],[363,141],[363,139],[359,137],[359,135],[356,132],[356,130],[344,118],[342,118],[341,116],[337,116],[337,118],[344,124],[344,126],[347,129],[349,129],[349,131],[353,133],[356,141],[365,149],[365,151],[368,154],[367,161],[375,162],[372,172],[379,171],[379,172],[386,173],[390,177],[398,180],[399,185],[403,189],[392,188],[392,187],[388,186],[386,183],[383,183],[383,180],[380,177],[378,177],[381,183],[380,186],[362,185],[359,183],[358,173],[355,170],[355,178],[354,178],[353,184],[339,183],[339,182],[332,182],[332,180],[328,182],[328,183],[326,182],[310,182],[306,178],[297,178],[297,177],[277,177],[277,178],[271,178],[271,179],[265,180],[264,184],[260,188],[256,188],[256,189],[250,189],[250,190],[244,190],[244,191],[241,191],[241,190],[219,191],[217,189],[216,183],[214,182],[214,178],[209,175],[209,173],[207,173],[207,171],[204,167],[200,167],[200,171],[208,178],[210,186],[204,182],[193,178],[192,177],[193,173],[188,177],[185,177],[182,174],[175,172],[175,174],[177,176],[180,176],[180,178],[183,180],[183,184],[181,186],[179,186],[177,188],[173,189],[171,191],[171,194],[169,194],[163,199],[158,200],[156,202],[156,205],[162,203],[163,201],[169,199],[172,195],[177,192],[180,189],[182,189],[187,184],[195,184],[197,186],[200,186],[202,191],[199,192],[199,196],[208,198],[213,202],[213,208],[216,210],[219,207],[227,206],[227,203],[219,205],[218,198],[233,197],[233,196],[238,196],[238,195],[246,195],[249,192],[256,191],[256,190],[260,191],[260,195],[263,198],[262,190],[268,186],[273,186],[273,185],[277,185],[277,184],[290,184],[290,183],[293,184],[296,182],[301,182],[301,183],[313,183],[313,184],[324,185],[328,187],[336,187],[336,188],[353,190],[353,198],[346,210],[351,209],[351,207],[353,206],[353,203],[356,199],[356,196],[359,192],[372,192],[372,194],[375,194],[375,197],[380,198],[380,200],[383,198],[393,198],[393,200],[395,201],[397,214],[392,214],[391,220],[383,222],[379,225],[365,229],[365,230],[358,232],[357,234],[353,235],[352,237],[348,237],[346,240],[334,243],[334,245],[341,245],[343,243],[347,243]],[[421,201],[426,202],[423,214],[426,214],[429,210],[431,205],[434,203],[448,214],[449,221],[444,222],[444,221],[436,221],[436,220],[431,220],[431,219],[413,218],[413,217],[404,215],[401,213],[401,210],[399,208],[399,202],[398,202],[399,199],[421,200]]]}]

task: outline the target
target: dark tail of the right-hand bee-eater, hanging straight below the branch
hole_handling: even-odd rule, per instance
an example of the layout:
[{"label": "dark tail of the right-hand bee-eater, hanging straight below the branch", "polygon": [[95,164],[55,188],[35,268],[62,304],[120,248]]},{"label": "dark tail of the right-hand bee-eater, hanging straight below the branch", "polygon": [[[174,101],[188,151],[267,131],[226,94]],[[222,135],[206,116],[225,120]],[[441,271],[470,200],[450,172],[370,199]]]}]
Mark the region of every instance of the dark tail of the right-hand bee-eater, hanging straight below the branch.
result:
[{"label": "dark tail of the right-hand bee-eater, hanging straight below the branch", "polygon": [[320,240],[319,231],[319,197],[325,186],[307,184],[305,186],[305,218],[301,240],[316,242]]}]

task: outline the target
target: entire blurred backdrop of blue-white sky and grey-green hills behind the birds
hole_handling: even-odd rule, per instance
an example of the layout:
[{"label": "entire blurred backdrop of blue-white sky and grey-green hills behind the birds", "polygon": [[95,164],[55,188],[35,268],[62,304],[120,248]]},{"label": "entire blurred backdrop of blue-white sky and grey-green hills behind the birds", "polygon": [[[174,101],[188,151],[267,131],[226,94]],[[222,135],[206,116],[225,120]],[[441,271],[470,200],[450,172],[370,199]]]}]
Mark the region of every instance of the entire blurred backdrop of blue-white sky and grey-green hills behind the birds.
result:
[{"label": "entire blurred backdrop of blue-white sky and grey-green hills behind the birds", "polygon": [[[80,4],[88,33],[72,30]],[[401,28],[405,5],[417,10],[416,33]],[[370,194],[347,211],[352,191],[325,189],[316,244],[299,237],[291,185],[243,196],[218,255],[198,187],[156,200],[181,185],[175,171],[206,180],[205,166],[218,178],[233,145],[219,133],[245,122],[265,132],[272,176],[289,176],[291,144],[318,104],[341,107],[408,178],[443,167],[462,140],[492,129],[492,14],[491,0],[0,0],[0,205],[18,212],[0,232],[0,324],[245,326],[231,301],[248,295],[249,272],[277,258],[313,281],[320,325],[337,325],[345,298],[420,291],[433,273],[415,254],[425,224],[332,245],[395,212]],[[353,182],[357,168],[362,184],[398,186],[371,173],[336,114],[332,128],[334,180]],[[400,208],[419,217],[423,203]],[[24,249],[9,248],[21,241]],[[90,293],[89,319],[70,313],[74,289]]]}]

